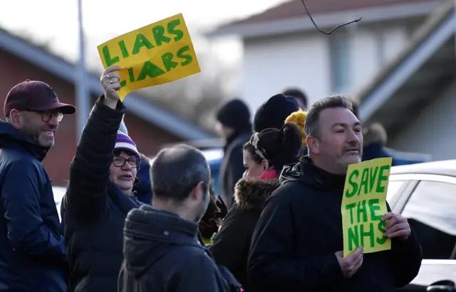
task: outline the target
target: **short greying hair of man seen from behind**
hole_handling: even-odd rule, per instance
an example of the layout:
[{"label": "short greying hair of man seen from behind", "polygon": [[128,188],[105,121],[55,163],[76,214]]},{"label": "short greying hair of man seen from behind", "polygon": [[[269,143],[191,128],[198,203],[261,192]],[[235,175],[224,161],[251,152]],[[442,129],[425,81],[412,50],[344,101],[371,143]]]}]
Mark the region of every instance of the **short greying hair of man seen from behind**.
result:
[{"label": "short greying hair of man seen from behind", "polygon": [[182,202],[199,182],[204,193],[209,190],[210,169],[201,151],[180,144],[157,154],[150,168],[152,192],[155,197]]}]

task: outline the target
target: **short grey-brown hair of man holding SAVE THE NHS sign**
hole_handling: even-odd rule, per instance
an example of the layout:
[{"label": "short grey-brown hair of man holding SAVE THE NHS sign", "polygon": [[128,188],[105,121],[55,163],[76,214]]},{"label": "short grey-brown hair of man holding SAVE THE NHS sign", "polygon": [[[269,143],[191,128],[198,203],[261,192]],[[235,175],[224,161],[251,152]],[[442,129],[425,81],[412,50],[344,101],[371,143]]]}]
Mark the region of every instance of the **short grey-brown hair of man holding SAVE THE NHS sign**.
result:
[{"label": "short grey-brown hair of man holding SAVE THE NHS sign", "polygon": [[304,126],[306,136],[318,137],[318,119],[320,118],[320,113],[323,109],[333,109],[336,107],[350,109],[353,112],[353,104],[350,99],[340,94],[314,102],[309,111],[307,111],[306,124]]}]

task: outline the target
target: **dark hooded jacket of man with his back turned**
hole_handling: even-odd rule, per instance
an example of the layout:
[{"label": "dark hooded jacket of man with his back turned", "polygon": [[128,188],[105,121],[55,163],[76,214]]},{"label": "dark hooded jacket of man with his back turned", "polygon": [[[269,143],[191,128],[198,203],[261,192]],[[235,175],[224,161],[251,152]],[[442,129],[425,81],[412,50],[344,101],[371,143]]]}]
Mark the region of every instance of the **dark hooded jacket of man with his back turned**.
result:
[{"label": "dark hooded jacket of man with his back turned", "polygon": [[143,205],[125,220],[123,292],[218,292],[239,285],[219,269],[198,239],[195,222]]}]

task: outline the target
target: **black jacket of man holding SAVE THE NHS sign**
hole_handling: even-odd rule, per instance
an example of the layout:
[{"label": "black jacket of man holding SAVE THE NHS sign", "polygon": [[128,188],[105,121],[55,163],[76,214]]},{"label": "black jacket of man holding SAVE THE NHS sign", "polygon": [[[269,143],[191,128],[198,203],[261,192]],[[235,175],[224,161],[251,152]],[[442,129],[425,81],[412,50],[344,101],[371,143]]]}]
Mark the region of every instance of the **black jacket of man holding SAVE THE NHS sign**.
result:
[{"label": "black jacket of man holding SAVE THE NHS sign", "polygon": [[[392,249],[364,254],[343,277],[335,253],[343,250],[341,203],[345,175],[317,168],[309,158],[286,166],[257,223],[249,254],[254,291],[393,292],[410,283],[423,255],[415,232]],[[388,206],[389,208],[389,206]]]}]

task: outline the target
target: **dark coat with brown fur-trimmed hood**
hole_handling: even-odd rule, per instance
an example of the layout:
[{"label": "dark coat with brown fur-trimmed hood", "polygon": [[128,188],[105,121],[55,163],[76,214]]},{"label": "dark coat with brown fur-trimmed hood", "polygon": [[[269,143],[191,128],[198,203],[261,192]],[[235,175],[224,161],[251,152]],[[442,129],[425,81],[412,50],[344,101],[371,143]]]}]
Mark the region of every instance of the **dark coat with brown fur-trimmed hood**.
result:
[{"label": "dark coat with brown fur-trimmed hood", "polygon": [[234,190],[235,202],[209,247],[217,264],[226,266],[234,278],[249,291],[247,259],[255,225],[266,199],[279,187],[279,180],[242,178]]}]

